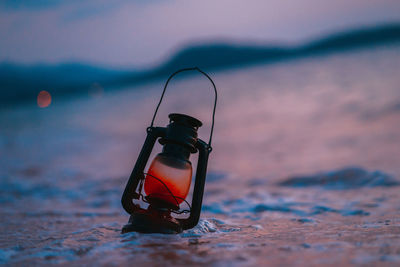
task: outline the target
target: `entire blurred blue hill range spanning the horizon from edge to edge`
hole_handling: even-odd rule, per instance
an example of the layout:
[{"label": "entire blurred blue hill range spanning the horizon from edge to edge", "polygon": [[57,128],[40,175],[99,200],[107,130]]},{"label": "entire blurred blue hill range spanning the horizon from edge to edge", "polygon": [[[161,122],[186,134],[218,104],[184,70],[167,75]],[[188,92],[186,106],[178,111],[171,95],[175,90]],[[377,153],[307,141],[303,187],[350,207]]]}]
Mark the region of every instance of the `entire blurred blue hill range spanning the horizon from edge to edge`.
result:
[{"label": "entire blurred blue hill range spanning the horizon from edge to edge", "polygon": [[20,66],[0,64],[0,104],[12,105],[36,97],[40,90],[53,96],[87,93],[94,83],[105,88],[137,85],[166,77],[177,69],[197,66],[206,71],[341,52],[400,42],[400,24],[337,33],[297,46],[210,43],[187,47],[147,71],[117,71],[83,64]]}]

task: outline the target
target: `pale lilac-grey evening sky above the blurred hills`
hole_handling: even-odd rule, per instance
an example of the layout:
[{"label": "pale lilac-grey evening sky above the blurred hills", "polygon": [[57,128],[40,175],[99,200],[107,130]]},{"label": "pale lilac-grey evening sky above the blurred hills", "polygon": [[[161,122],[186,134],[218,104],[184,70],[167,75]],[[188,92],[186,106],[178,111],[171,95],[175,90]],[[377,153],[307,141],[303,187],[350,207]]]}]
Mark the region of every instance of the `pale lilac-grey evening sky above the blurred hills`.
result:
[{"label": "pale lilac-grey evening sky above the blurred hills", "polygon": [[0,62],[151,67],[187,45],[295,45],[400,22],[399,0],[0,0]]}]

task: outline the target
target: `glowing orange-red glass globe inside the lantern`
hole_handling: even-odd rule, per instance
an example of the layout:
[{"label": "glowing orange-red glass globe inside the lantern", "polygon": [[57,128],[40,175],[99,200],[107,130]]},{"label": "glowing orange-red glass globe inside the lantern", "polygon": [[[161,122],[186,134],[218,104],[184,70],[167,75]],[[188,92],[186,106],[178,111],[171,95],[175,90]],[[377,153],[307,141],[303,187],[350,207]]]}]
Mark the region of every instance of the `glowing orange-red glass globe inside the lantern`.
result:
[{"label": "glowing orange-red glass globe inside the lantern", "polygon": [[189,193],[192,180],[190,161],[158,154],[144,182],[148,197],[179,206]]}]

